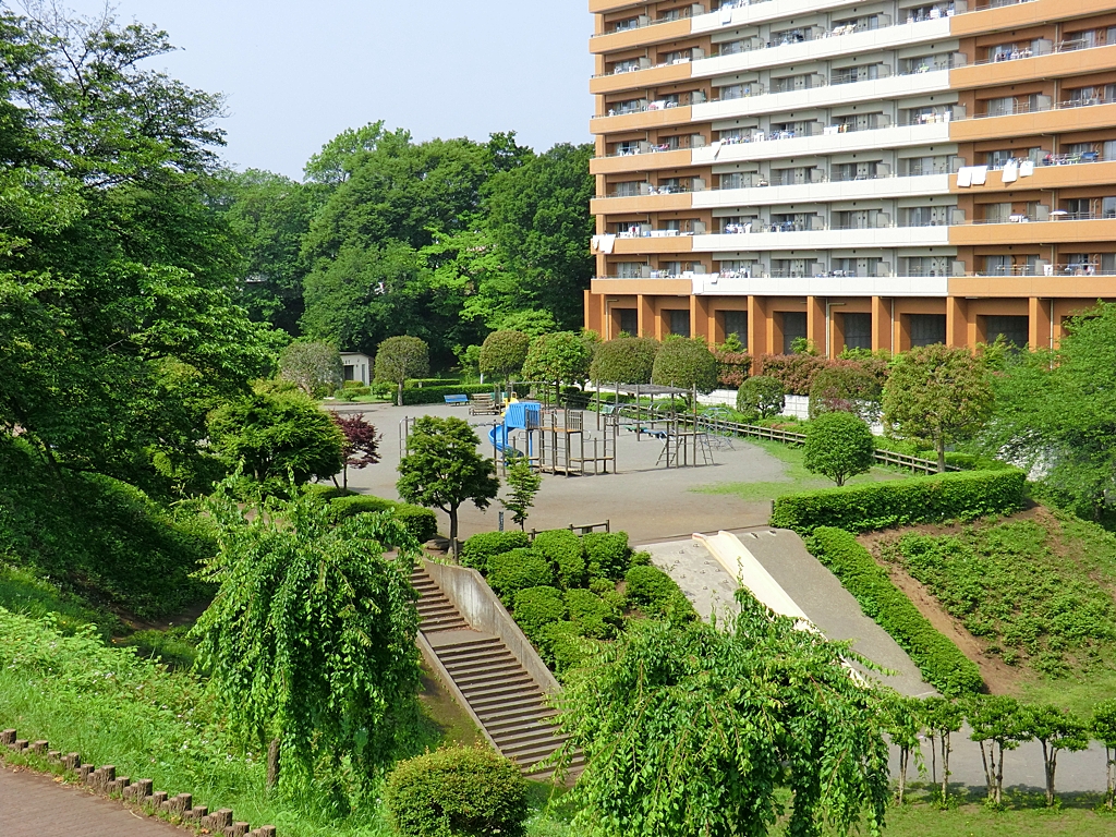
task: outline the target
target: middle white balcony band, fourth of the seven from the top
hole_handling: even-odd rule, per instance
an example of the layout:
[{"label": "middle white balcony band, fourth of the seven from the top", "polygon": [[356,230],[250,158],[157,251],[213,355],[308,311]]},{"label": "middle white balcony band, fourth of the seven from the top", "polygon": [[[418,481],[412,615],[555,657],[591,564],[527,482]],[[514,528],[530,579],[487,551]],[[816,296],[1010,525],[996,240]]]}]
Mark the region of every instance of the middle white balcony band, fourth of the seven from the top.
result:
[{"label": "middle white balcony band, fourth of the seven from the top", "polygon": [[694,165],[742,163],[750,160],[777,160],[841,154],[845,152],[901,148],[950,142],[950,124],[903,125],[876,131],[854,131],[846,134],[817,134],[792,140],[767,140],[762,143],[735,143],[719,148],[706,145],[694,148]]}]

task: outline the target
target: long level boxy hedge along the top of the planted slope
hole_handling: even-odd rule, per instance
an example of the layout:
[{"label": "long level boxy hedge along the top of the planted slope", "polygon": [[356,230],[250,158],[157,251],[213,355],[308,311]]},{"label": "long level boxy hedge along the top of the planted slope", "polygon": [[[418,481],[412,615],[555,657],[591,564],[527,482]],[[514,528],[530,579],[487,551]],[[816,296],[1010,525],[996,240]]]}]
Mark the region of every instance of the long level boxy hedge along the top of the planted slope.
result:
[{"label": "long level boxy hedge along the top of the planted slope", "polygon": [[1016,469],[963,471],[783,494],[775,501],[771,526],[799,532],[820,526],[865,532],[1008,514],[1023,507],[1023,472]]}]

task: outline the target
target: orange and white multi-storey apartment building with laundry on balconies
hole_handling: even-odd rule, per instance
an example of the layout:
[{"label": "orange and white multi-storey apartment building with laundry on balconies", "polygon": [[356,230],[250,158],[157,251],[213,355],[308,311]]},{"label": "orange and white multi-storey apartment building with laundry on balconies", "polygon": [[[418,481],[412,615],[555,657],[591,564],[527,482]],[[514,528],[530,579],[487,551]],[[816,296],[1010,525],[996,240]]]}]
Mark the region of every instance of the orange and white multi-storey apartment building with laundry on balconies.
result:
[{"label": "orange and white multi-storey apartment building with laundry on balconies", "polygon": [[585,324],[1056,345],[1116,299],[1116,0],[589,0]]}]

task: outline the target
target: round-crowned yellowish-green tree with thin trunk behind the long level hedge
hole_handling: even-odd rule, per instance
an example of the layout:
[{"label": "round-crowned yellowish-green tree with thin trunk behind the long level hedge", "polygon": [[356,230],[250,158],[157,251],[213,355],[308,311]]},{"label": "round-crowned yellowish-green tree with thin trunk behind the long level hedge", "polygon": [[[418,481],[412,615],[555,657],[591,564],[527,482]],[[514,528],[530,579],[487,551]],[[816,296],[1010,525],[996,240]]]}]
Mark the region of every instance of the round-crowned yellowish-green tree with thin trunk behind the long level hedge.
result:
[{"label": "round-crowned yellowish-green tree with thin trunk behind the long level hedge", "polygon": [[945,471],[945,445],[979,431],[992,411],[992,381],[966,348],[920,346],[899,355],[884,386],[888,433],[932,444]]}]

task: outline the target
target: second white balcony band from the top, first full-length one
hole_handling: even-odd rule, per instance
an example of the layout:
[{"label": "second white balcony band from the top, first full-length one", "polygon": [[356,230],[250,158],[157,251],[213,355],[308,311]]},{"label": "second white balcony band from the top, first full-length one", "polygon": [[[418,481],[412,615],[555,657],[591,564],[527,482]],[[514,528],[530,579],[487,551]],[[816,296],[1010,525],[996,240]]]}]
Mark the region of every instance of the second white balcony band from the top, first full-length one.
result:
[{"label": "second white balcony band from the top, first full-length one", "polygon": [[[949,39],[950,19],[939,18],[918,23],[901,23],[883,29],[868,29],[852,35],[817,38],[801,44],[786,44],[769,49],[753,49],[748,52],[704,58],[694,61],[692,67],[694,78],[709,78],[764,67],[824,61],[858,52],[897,49],[924,41],[947,41]],[[939,51],[944,50],[943,45],[940,44],[939,47]]]}]

